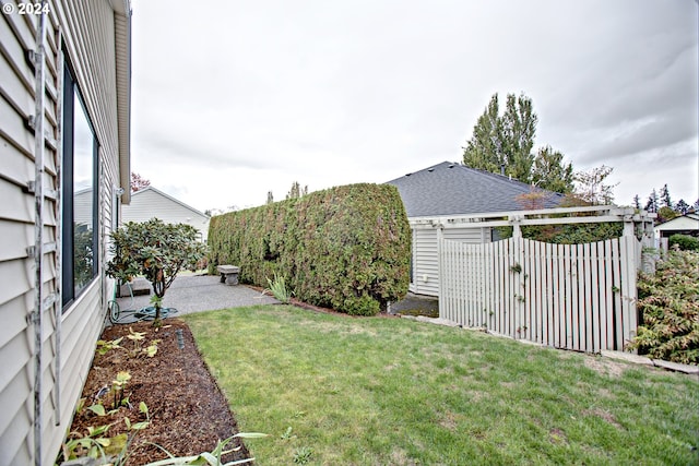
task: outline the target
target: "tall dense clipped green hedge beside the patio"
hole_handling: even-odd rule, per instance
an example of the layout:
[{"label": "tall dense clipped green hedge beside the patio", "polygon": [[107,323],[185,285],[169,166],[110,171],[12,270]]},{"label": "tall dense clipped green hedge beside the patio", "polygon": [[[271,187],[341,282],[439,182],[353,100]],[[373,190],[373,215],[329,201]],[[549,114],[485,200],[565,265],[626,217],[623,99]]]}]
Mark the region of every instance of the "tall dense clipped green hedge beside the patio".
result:
[{"label": "tall dense clipped green hedge beside the patio", "polygon": [[411,230],[390,184],[350,184],[215,216],[210,272],[240,266],[242,283],[284,276],[296,297],[355,315],[401,299],[410,280]]}]

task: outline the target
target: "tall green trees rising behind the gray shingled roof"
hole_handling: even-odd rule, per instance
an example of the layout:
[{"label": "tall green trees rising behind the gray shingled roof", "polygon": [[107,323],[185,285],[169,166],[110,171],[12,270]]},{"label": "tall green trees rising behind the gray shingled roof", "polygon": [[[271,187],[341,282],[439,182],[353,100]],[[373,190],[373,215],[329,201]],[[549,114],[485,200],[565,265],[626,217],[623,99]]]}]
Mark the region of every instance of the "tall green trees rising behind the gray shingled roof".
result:
[{"label": "tall green trees rising behind the gray shingled roof", "polygon": [[502,116],[498,95],[490,97],[485,111],[473,127],[471,140],[463,147],[465,165],[494,174],[503,172],[520,181],[569,193],[573,188],[571,164],[550,146],[532,152],[538,117],[532,99],[524,94],[508,94]]}]

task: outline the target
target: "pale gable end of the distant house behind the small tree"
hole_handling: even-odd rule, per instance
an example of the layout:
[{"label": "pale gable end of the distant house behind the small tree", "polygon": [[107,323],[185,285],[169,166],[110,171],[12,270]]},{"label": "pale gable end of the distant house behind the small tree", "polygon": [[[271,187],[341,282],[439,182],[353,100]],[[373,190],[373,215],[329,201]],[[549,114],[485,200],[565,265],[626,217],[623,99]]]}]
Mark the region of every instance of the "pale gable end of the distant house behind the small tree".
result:
[{"label": "pale gable end of the distant house behind the small tree", "polygon": [[166,224],[191,225],[199,230],[202,241],[206,241],[209,237],[206,215],[154,188],[132,193],[131,203],[121,211],[122,222],[146,222],[153,217]]}]

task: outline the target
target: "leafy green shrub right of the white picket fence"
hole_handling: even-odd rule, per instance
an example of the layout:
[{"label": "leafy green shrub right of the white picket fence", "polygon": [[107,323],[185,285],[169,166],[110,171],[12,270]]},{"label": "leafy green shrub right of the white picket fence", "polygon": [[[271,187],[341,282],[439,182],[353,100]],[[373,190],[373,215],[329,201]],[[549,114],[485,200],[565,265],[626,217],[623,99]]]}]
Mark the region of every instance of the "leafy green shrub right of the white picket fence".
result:
[{"label": "leafy green shrub right of the white picket fence", "polygon": [[628,346],[651,358],[699,363],[699,253],[671,251],[655,274],[640,274],[642,325]]}]

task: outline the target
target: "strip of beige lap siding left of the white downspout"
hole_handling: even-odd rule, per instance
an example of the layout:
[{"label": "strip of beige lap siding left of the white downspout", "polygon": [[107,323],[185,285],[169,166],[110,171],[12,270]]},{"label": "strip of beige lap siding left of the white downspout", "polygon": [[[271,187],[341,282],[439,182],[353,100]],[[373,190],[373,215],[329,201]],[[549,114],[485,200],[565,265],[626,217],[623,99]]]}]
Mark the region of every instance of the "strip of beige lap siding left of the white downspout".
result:
[{"label": "strip of beige lap siding left of the white downspout", "polygon": [[[34,75],[25,61],[35,49],[32,23],[20,15],[0,21],[0,464],[32,464],[33,345],[27,318],[34,308]],[[48,187],[55,183],[49,181]],[[12,241],[5,239],[12,239]],[[50,278],[49,278],[50,279]],[[47,332],[50,334],[50,332]]]}]

